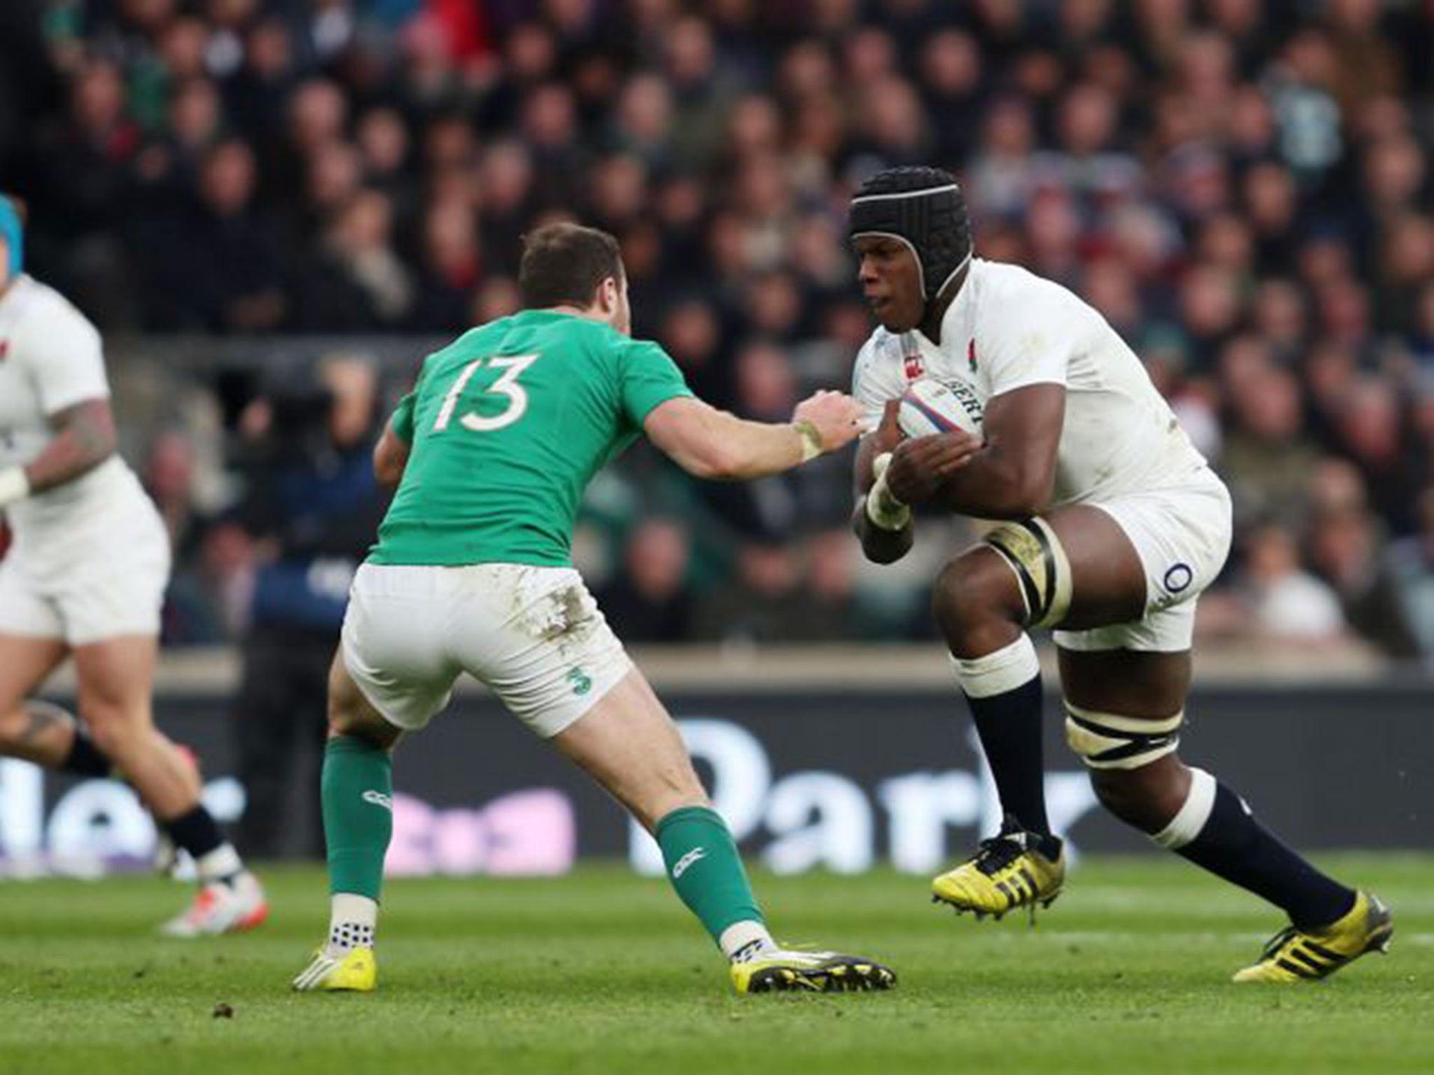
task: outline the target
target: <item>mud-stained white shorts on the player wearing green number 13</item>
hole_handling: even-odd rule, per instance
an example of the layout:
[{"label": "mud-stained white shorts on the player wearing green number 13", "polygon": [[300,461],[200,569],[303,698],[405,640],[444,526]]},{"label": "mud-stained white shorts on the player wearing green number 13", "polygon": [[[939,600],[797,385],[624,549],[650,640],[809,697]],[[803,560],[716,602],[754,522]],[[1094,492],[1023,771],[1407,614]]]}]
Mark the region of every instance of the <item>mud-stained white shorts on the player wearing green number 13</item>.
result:
[{"label": "mud-stained white shorts on the player wearing green number 13", "polygon": [[393,725],[422,728],[460,672],[551,738],[632,668],[572,568],[364,563],[340,649],[364,698]]}]

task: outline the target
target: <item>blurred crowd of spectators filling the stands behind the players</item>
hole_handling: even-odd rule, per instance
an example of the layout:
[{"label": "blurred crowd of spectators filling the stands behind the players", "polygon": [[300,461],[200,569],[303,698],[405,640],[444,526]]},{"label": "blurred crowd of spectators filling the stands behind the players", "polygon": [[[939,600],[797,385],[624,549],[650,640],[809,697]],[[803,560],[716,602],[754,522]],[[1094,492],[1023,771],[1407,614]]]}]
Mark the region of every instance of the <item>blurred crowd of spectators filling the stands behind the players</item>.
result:
[{"label": "blurred crowd of spectators filling the stands behind the players", "polygon": [[[33,271],[108,333],[450,335],[512,311],[522,234],[575,216],[619,236],[637,334],[784,419],[870,328],[850,191],[941,165],[978,254],[1091,301],[1229,480],[1206,638],[1434,655],[1434,3],[0,9],[0,175]],[[331,631],[334,565],[381,512],[350,466],[402,388],[377,373],[211,386],[212,503],[182,433],[135,460],[182,553],[172,644]],[[860,565],[847,466],[697,486],[637,450],[578,563],[635,642],[926,638],[969,530],[928,519],[909,562]],[[294,578],[313,606],[280,599]]]}]

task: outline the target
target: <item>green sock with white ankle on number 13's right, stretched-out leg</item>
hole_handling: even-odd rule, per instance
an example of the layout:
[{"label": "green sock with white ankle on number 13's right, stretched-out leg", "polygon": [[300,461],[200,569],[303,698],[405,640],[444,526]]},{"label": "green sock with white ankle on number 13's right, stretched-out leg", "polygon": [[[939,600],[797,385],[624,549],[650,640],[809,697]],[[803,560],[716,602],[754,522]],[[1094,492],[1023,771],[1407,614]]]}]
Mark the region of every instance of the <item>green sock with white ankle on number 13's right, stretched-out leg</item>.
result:
[{"label": "green sock with white ankle on number 13's right, stretched-out leg", "polygon": [[708,807],[683,807],[657,823],[668,880],[728,959],[771,945],[727,823]]}]

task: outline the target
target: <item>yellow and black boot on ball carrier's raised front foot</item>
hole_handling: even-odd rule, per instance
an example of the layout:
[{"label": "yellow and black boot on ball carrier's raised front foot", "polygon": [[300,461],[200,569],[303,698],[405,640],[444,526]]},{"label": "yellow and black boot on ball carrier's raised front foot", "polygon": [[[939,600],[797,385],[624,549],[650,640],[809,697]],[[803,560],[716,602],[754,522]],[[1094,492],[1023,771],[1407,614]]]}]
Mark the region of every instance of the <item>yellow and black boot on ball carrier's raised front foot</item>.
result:
[{"label": "yellow and black boot on ball carrier's raised front foot", "polygon": [[1051,906],[1065,883],[1065,849],[1054,860],[1040,850],[1041,837],[1007,816],[1001,831],[982,840],[974,856],[931,882],[932,903],[949,903],[956,913],[1001,917],[1008,910]]}]

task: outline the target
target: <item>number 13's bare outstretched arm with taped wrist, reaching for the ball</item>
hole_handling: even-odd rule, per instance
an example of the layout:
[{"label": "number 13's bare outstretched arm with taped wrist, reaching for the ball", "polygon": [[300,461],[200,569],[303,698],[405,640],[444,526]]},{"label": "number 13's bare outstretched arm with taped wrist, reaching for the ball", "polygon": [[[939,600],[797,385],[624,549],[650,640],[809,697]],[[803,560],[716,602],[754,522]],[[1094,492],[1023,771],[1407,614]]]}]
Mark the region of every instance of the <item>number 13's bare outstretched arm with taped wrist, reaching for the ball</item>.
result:
[{"label": "number 13's bare outstretched arm with taped wrist, reaching for the ball", "polygon": [[819,391],[797,404],[789,423],[747,421],[680,396],[654,407],[642,423],[648,440],[683,470],[718,482],[747,482],[837,452],[860,434],[850,396]]}]

